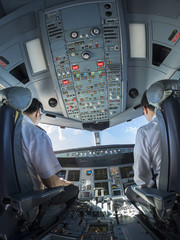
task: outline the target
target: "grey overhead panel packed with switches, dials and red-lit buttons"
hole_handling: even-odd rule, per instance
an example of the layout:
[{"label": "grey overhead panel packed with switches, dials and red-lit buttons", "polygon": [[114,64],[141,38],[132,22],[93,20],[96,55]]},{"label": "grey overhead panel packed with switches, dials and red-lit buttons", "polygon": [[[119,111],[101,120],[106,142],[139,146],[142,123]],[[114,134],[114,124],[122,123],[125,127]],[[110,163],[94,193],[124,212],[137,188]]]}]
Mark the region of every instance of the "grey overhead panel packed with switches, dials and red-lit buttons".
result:
[{"label": "grey overhead panel packed with switches, dials and red-lit buttons", "polygon": [[42,19],[67,116],[88,123],[119,114],[123,66],[116,3],[51,9]]}]

